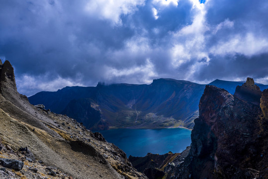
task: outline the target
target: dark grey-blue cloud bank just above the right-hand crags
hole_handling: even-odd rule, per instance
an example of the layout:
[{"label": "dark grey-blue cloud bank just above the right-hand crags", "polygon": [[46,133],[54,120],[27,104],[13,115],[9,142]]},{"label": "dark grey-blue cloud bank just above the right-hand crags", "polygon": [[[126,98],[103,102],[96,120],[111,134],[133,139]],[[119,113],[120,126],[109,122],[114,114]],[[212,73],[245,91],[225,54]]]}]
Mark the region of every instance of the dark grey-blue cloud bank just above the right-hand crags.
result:
[{"label": "dark grey-blue cloud bank just above the right-hand crags", "polygon": [[[197,80],[210,80],[211,76],[223,80],[241,79],[241,77],[259,79],[267,76],[268,53],[250,58],[236,54],[235,56],[210,56],[210,59],[208,66],[205,65],[196,71]],[[256,73],[256,70],[258,73]]]}]

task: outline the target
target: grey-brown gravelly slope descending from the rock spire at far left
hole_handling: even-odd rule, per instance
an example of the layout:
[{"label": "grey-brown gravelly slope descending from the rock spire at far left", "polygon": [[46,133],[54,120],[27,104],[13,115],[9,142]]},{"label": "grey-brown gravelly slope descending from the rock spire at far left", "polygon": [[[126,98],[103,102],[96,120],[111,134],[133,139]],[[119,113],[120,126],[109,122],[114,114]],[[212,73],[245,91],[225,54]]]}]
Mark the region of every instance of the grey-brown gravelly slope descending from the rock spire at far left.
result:
[{"label": "grey-brown gravelly slope descending from the rock spire at far left", "polygon": [[[16,90],[10,63],[5,61],[0,68],[0,158],[24,163],[22,170],[13,171],[14,176],[6,168],[0,177],[146,178],[132,167],[122,150],[107,143],[101,134],[92,133],[72,118],[30,104]],[[21,151],[24,147],[36,160],[28,161]]]}]

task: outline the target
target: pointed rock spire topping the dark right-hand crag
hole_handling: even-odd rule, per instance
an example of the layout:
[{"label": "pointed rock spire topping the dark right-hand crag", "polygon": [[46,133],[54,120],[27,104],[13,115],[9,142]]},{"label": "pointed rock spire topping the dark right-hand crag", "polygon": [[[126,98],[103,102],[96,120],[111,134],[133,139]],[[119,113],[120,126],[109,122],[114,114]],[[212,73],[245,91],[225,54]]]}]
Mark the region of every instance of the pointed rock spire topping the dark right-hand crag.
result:
[{"label": "pointed rock spire topping the dark right-hand crag", "polygon": [[236,87],[235,96],[253,104],[260,105],[262,91],[255,85],[254,80],[248,77],[246,83]]}]

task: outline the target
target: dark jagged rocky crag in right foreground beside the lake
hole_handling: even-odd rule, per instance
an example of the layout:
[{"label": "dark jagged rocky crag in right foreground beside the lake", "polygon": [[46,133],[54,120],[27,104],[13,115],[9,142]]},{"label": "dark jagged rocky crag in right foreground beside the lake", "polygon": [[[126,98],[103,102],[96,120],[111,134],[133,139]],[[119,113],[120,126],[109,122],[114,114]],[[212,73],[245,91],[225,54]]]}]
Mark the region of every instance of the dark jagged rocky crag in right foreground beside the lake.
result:
[{"label": "dark jagged rocky crag in right foreground beside the lake", "polygon": [[268,178],[267,89],[250,78],[235,95],[206,86],[191,133],[189,154],[167,179]]}]

